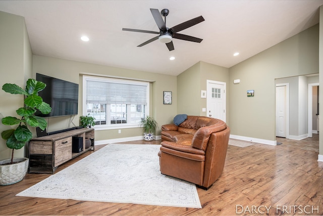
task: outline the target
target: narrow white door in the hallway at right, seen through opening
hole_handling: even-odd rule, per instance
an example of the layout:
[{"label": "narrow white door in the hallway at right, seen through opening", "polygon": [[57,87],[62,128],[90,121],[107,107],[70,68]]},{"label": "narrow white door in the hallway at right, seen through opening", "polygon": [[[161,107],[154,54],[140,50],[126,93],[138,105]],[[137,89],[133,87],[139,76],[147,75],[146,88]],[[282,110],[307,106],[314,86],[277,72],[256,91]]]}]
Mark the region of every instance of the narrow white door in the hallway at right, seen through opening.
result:
[{"label": "narrow white door in the hallway at right, seen through opening", "polygon": [[276,87],[276,136],[286,137],[286,85]]}]

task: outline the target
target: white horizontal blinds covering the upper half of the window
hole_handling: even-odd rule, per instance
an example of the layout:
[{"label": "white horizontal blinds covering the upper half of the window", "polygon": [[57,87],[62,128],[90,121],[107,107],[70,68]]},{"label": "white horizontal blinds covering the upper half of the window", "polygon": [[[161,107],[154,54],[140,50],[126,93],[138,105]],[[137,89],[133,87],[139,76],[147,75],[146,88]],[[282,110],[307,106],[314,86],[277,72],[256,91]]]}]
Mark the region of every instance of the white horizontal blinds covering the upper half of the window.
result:
[{"label": "white horizontal blinds covering the upper half of the window", "polygon": [[86,103],[147,104],[147,84],[86,80]]}]

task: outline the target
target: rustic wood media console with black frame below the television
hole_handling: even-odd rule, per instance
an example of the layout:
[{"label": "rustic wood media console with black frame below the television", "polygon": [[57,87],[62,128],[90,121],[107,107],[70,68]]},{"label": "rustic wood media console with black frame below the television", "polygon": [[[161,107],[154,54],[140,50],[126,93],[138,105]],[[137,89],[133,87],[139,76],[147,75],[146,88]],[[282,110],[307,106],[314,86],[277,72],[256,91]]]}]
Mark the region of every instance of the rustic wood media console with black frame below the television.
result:
[{"label": "rustic wood media console with black frame below the television", "polygon": [[[72,152],[73,137],[82,137],[83,150]],[[86,138],[91,146],[85,148]],[[94,128],[82,128],[48,136],[32,138],[29,141],[29,173],[53,174],[58,166],[88,151],[94,150]]]}]

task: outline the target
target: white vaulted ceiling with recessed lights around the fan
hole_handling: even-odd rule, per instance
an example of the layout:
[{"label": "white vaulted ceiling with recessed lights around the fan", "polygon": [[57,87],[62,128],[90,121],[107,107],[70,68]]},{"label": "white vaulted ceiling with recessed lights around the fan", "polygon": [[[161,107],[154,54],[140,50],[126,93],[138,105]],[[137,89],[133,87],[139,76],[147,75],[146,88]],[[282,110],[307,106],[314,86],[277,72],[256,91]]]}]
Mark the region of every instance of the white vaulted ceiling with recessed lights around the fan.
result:
[{"label": "white vaulted ceiling with recessed lights around the fan", "polygon": [[[178,75],[199,61],[230,68],[317,24],[320,5],[323,0],[0,1],[0,11],[25,18],[35,55]],[[122,28],[159,31],[150,8],[169,9],[169,28],[203,16],[179,32],[203,41],[173,39],[173,51],[158,40],[137,47],[156,35]]]}]

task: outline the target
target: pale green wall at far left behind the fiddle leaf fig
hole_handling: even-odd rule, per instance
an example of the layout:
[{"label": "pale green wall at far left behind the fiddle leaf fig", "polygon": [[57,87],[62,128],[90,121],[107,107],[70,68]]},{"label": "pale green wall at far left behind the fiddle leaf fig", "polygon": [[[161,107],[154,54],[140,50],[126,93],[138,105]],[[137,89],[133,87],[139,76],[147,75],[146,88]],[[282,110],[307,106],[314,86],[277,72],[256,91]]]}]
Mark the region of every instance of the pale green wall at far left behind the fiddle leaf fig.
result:
[{"label": "pale green wall at far left behind the fiddle leaf fig", "polygon": [[[23,17],[0,12],[0,86],[15,83],[25,88],[26,80],[32,74],[32,52]],[[22,95],[11,95],[0,91],[0,119],[15,116],[16,110],[23,106]],[[3,100],[5,98],[5,100]],[[11,129],[0,124],[0,131]],[[0,138],[0,159],[11,158],[12,150]],[[23,157],[24,148],[15,150],[14,157]]]}]

